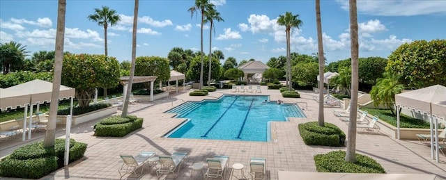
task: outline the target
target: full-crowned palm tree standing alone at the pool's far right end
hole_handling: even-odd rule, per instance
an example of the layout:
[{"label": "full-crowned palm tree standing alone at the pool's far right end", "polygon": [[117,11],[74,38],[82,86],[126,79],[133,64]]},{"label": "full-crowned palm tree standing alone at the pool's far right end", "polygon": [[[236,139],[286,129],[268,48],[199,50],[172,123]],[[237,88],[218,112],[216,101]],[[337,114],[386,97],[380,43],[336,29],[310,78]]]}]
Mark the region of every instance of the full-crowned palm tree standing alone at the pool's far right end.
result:
[{"label": "full-crowned palm tree standing alone at the pool's far right end", "polygon": [[290,50],[290,34],[292,28],[299,28],[303,22],[299,19],[299,15],[293,15],[291,12],[286,12],[285,15],[279,15],[277,24],[285,26],[286,32],[286,77],[289,81],[289,90],[292,90],[293,83],[291,81],[291,50]]}]

